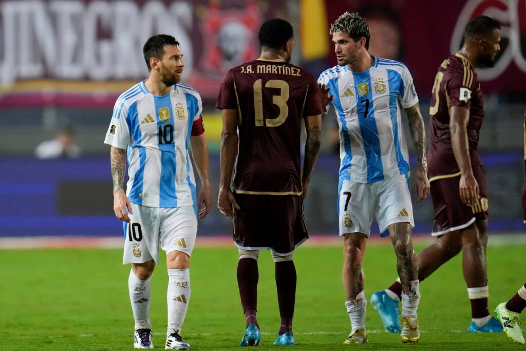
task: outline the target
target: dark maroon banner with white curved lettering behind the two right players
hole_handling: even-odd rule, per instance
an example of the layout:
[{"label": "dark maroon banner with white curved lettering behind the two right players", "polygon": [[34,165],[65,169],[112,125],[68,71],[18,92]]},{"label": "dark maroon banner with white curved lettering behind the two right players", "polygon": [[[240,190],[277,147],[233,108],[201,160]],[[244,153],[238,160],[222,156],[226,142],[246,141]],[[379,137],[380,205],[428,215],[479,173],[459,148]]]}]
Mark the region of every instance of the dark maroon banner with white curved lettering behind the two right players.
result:
[{"label": "dark maroon banner with white curved lettering behind the two right players", "polygon": [[[380,46],[379,56],[398,43],[396,56],[408,66],[421,96],[429,96],[437,69],[446,57],[459,51],[468,21],[487,15],[501,24],[501,52],[493,68],[478,68],[484,93],[526,91],[526,1],[525,0],[326,0],[328,23],[345,11],[358,11],[371,27],[371,46]],[[383,20],[383,22],[381,22]],[[382,27],[371,24],[382,23]],[[389,33],[382,29],[389,24]],[[398,32],[399,38],[395,33]],[[329,35],[328,35],[329,37]],[[389,40],[388,40],[389,39]],[[381,50],[382,49],[382,50]],[[331,53],[329,65],[336,65]]]}]

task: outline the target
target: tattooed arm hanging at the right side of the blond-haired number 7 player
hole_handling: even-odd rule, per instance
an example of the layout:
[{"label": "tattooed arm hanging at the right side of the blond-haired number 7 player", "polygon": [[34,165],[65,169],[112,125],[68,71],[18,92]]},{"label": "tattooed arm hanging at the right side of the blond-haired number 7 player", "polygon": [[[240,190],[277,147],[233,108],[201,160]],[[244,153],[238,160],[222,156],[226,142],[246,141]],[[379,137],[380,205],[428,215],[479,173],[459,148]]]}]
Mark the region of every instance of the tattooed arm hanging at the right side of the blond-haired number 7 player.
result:
[{"label": "tattooed arm hanging at the right side of the blond-haired number 7 player", "polygon": [[417,152],[417,187],[416,196],[417,202],[426,198],[429,194],[430,186],[427,176],[428,167],[426,159],[426,131],[424,126],[424,119],[420,114],[420,107],[418,103],[406,108],[407,118],[409,120],[409,130],[411,138],[413,139],[414,148]]}]

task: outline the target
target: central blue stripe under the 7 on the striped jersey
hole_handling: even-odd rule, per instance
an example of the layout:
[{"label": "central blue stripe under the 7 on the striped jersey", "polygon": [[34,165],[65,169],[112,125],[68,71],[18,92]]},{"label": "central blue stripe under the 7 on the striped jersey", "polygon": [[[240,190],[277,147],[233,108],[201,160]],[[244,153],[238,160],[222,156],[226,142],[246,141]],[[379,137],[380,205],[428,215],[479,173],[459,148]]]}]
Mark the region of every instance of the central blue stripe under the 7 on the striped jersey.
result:
[{"label": "central blue stripe under the 7 on the striped jersey", "polygon": [[[358,123],[360,124],[360,134],[365,149],[367,160],[367,182],[373,183],[383,180],[382,151],[380,147],[380,137],[378,136],[378,127],[375,119],[375,106],[372,101],[372,84],[369,70],[361,73],[352,73],[355,79],[355,91],[358,92],[358,85],[367,83],[369,91],[367,95],[356,95],[356,109],[358,113]],[[366,99],[369,100],[369,111],[364,116],[367,107]]]}]

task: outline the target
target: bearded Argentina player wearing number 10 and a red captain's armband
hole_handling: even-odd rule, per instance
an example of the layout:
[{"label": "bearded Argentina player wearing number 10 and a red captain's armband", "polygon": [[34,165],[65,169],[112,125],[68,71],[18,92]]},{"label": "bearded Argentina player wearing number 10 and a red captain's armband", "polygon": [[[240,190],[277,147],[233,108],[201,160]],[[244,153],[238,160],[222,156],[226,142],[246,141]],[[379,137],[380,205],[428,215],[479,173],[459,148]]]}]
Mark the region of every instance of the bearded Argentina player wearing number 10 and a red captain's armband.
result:
[{"label": "bearded Argentina player wearing number 10 and a red captain's armband", "polygon": [[[135,319],[135,348],[151,343],[150,279],[158,263],[159,244],[168,269],[166,349],[187,350],[180,329],[190,299],[189,259],[197,233],[197,216],[211,208],[208,145],[201,98],[179,83],[183,53],[173,36],[150,37],[143,48],[149,76],[120,95],[105,143],[111,145],[115,216],[124,221],[124,260]],[[201,180],[196,181],[188,148]],[[124,173],[128,161],[126,193]]]}]

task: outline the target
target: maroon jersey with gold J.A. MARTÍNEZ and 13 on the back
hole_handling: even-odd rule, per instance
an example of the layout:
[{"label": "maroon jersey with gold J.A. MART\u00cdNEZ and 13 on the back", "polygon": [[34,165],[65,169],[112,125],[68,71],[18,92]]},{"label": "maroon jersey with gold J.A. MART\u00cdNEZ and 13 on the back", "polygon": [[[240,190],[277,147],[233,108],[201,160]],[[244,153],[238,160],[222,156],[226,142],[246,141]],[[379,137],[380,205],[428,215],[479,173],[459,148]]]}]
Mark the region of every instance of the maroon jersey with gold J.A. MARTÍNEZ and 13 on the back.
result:
[{"label": "maroon jersey with gold J.A. MART\u00cdNEZ and 13 on the back", "polygon": [[299,195],[302,118],[325,109],[312,74],[281,60],[247,62],[227,72],[216,107],[238,110],[236,192]]}]

